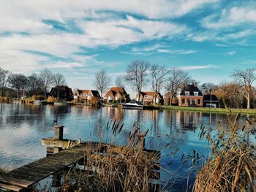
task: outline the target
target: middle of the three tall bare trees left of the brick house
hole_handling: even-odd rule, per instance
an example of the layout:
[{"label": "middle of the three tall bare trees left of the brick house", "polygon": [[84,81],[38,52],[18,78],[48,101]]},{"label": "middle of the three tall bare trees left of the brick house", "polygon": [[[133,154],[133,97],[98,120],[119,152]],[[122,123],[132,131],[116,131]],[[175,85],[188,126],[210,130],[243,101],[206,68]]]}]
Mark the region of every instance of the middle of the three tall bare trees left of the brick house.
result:
[{"label": "middle of the three tall bare trees left of the brick house", "polygon": [[154,103],[156,104],[157,95],[160,92],[160,89],[162,88],[162,85],[166,80],[168,70],[165,68],[165,66],[159,66],[154,64],[151,65],[150,74],[152,80],[152,89],[154,91]]}]

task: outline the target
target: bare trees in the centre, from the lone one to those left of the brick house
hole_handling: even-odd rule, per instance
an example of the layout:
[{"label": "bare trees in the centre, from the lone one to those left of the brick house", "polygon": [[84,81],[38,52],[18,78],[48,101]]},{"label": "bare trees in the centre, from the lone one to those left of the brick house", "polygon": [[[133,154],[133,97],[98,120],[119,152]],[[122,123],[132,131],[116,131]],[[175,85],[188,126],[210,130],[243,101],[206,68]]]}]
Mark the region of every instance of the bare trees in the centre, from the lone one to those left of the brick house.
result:
[{"label": "bare trees in the centre, from the lone one to those left of the brick house", "polygon": [[[178,67],[167,69],[166,66],[150,64],[147,61],[133,61],[127,66],[124,76],[116,77],[116,86],[124,87],[125,82],[129,83],[132,88],[135,88],[138,100],[140,100],[140,93],[143,87],[150,84],[155,93],[155,99],[157,99],[157,93],[161,92],[163,88],[170,93],[171,99],[173,99],[178,88],[192,81],[189,74]],[[101,96],[108,91],[110,82],[111,77],[104,69],[95,73],[94,87],[99,90]]]}]

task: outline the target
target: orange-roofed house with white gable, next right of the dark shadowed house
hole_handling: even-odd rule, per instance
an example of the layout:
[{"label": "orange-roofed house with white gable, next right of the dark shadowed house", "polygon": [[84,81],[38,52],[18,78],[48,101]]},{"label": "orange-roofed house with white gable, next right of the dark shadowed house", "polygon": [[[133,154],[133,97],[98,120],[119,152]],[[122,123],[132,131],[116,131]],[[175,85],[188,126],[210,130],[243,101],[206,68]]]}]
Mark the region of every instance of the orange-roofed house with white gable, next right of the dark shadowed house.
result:
[{"label": "orange-roofed house with white gable, next right of the dark shadowed house", "polygon": [[101,97],[99,91],[91,89],[77,89],[74,92],[74,99],[78,103],[99,104]]}]

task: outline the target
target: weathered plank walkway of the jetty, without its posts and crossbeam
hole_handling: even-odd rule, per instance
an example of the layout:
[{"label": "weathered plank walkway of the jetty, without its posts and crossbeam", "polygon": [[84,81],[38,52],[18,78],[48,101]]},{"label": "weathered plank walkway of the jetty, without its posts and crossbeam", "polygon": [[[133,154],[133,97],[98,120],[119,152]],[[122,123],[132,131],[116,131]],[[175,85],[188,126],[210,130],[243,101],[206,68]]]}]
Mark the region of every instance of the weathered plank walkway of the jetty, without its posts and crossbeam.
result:
[{"label": "weathered plank walkway of the jetty, without its posts and crossbeam", "polygon": [[[84,157],[88,143],[79,144],[54,155],[48,155],[31,164],[27,164],[11,172],[0,174],[0,188],[11,191],[26,191],[34,183],[59,172]],[[91,145],[90,149],[93,149]],[[97,145],[95,145],[97,147]]]}]

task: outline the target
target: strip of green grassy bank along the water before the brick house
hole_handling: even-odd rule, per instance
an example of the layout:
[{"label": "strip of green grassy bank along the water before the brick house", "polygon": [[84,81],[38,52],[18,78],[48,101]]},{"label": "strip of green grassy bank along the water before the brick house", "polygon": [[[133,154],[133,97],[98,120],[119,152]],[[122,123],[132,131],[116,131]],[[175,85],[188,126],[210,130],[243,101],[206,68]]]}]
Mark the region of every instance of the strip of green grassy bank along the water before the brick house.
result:
[{"label": "strip of green grassy bank along the water before the brick house", "polygon": [[163,105],[160,107],[162,110],[184,110],[184,111],[197,111],[197,112],[222,112],[222,113],[227,113],[227,112],[234,112],[234,113],[244,113],[244,114],[256,114],[255,109],[230,109],[227,110],[225,108],[209,108],[209,107],[179,107],[179,106],[168,106],[168,105]]}]

